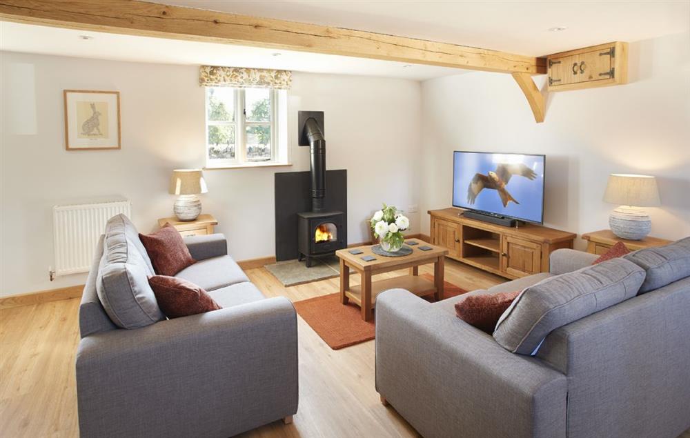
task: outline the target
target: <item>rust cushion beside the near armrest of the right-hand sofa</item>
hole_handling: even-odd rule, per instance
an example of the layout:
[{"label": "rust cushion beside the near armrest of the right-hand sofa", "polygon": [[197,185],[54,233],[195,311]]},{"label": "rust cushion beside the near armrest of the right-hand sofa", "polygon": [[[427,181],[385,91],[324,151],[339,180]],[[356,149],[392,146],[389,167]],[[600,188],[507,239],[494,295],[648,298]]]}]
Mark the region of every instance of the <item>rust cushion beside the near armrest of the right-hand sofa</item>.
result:
[{"label": "rust cushion beside the near armrest of the right-hand sofa", "polygon": [[469,295],[455,304],[455,313],[466,323],[491,335],[498,319],[520,292],[517,290],[491,295]]}]

